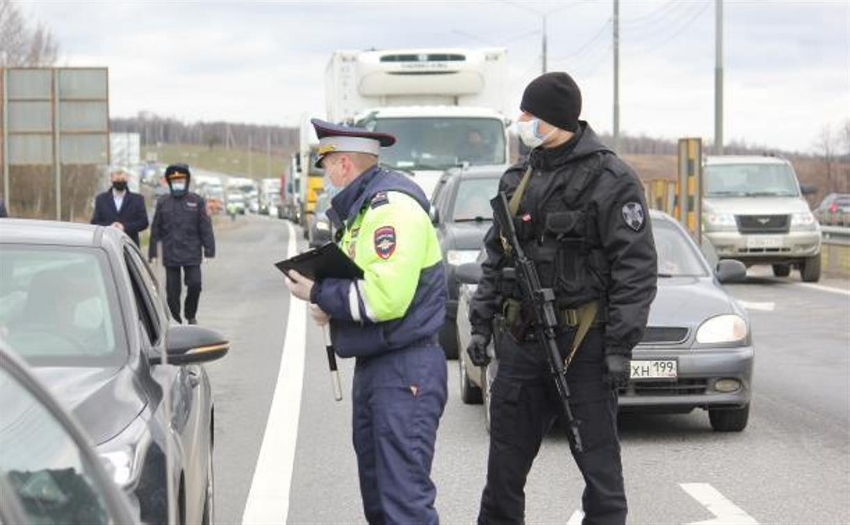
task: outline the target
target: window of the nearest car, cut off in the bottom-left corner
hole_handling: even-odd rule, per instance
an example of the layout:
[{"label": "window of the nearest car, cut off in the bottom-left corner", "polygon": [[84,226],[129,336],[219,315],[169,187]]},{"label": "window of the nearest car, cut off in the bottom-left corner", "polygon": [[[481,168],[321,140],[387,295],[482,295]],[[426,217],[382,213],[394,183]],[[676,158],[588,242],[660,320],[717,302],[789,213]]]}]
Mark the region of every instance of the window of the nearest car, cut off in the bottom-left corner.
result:
[{"label": "window of the nearest car, cut off in the bottom-left corner", "polygon": [[27,522],[111,523],[96,472],[65,426],[0,370],[0,477]]}]

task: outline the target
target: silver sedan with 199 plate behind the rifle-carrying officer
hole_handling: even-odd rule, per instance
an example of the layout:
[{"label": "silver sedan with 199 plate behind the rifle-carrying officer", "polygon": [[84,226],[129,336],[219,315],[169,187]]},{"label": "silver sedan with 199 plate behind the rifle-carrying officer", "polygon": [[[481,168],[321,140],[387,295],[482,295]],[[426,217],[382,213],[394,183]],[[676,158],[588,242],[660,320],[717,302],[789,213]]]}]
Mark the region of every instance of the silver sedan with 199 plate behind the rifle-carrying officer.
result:
[{"label": "silver sedan with 199 plate behind the rifle-carrying officer", "polygon": [[[621,409],[706,409],[714,430],[740,432],[750,415],[755,350],[747,314],[722,283],[744,279],[746,269],[738,261],[721,261],[712,269],[672,217],[660,212],[650,217],[658,251],[658,294],[643,342],[632,352],[631,380],[621,389]],[[488,393],[498,373],[495,352],[490,344],[490,365],[477,367],[463,350],[470,338],[469,303],[479,263],[463,265],[456,274],[465,283],[457,315],[461,398],[467,404],[483,401],[489,425]]]}]

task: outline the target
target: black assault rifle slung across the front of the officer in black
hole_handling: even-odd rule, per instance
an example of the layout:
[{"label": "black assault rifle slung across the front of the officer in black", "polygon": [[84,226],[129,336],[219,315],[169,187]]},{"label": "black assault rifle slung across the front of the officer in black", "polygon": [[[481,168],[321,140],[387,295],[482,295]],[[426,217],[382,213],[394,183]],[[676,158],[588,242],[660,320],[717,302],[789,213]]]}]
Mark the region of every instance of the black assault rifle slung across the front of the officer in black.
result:
[{"label": "black assault rifle slung across the front of the officer in black", "polygon": [[579,434],[578,421],[575,421],[573,411],[570,409],[570,387],[567,385],[567,368],[561,353],[558,352],[556,329],[558,318],[555,315],[555,292],[552,288],[543,288],[540,284],[540,276],[537,268],[530,258],[526,257],[522,246],[519,246],[517,230],[513,225],[513,213],[507,204],[505,192],[490,200],[493,206],[496,223],[501,229],[501,240],[513,255],[515,279],[519,282],[523,297],[534,309],[534,333],[538,344],[546,350],[549,359],[549,370],[552,373],[555,387],[558,388],[558,398],[561,399],[561,407],[564,409],[570,441],[577,452],[582,451],[581,434]]}]

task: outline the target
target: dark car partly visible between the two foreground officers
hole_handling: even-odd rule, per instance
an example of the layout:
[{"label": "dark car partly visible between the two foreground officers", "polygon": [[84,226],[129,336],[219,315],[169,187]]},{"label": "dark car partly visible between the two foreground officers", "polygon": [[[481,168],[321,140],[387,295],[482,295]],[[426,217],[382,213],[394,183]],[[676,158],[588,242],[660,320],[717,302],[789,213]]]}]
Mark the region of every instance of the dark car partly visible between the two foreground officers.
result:
[{"label": "dark car partly visible between the two foreground officers", "polygon": [[476,166],[446,172],[434,191],[431,221],[443,251],[449,297],[445,304],[445,324],[439,343],[447,358],[457,357],[456,315],[460,284],[455,268],[478,257],[484,234],[493,221],[492,199],[507,166]]}]

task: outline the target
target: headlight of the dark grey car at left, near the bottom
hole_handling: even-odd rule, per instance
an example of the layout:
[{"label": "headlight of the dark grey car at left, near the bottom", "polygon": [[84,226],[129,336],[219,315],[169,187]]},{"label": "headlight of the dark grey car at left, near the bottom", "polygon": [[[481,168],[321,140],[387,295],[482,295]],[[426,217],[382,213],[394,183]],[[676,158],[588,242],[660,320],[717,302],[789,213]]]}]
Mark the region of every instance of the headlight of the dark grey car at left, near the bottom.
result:
[{"label": "headlight of the dark grey car at left, near the bottom", "polygon": [[106,471],[119,487],[132,487],[139,481],[144,454],[150,446],[147,423],[137,418],[117,437],[96,448]]}]

